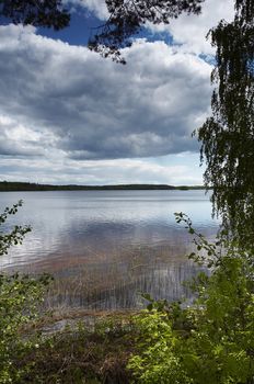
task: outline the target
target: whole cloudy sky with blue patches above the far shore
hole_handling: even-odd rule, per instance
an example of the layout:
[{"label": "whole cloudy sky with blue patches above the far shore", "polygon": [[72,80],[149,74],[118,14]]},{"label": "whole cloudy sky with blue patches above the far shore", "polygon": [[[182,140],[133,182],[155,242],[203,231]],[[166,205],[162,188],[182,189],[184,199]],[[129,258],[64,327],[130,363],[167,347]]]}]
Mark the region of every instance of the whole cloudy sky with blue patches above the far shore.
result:
[{"label": "whole cloudy sky with blue patches above the far shore", "polygon": [[232,0],[146,25],[127,65],[86,48],[103,0],[65,0],[70,27],[0,25],[0,181],[51,184],[203,183],[199,143],[210,115],[215,50],[207,32]]}]

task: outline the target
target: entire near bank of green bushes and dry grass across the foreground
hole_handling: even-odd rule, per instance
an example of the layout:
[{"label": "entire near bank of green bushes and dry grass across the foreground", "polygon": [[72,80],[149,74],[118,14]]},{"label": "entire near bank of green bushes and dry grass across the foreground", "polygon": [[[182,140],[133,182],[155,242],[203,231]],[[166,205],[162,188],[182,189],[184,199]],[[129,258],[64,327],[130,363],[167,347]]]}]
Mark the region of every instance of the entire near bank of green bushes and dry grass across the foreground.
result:
[{"label": "entire near bank of green bushes and dry grass across the foreground", "polygon": [[[19,205],[4,211],[2,224]],[[176,221],[194,236],[189,258],[211,269],[189,282],[190,306],[145,294],[147,309],[136,315],[81,319],[48,335],[39,303],[49,278],[2,274],[0,383],[253,384],[253,253],[221,235],[209,244],[182,213]],[[1,250],[27,229],[2,233]]]}]

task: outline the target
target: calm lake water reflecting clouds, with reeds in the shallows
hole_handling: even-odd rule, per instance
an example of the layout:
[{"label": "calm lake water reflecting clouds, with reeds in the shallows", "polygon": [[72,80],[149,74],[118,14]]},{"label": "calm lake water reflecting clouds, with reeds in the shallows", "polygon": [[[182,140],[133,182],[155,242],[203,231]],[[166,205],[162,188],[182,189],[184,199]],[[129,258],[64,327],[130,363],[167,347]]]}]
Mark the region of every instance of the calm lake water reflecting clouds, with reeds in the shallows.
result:
[{"label": "calm lake water reflecting clouds, with reeds in the shallows", "polygon": [[210,239],[219,225],[204,191],[4,192],[0,208],[20,199],[9,226],[33,230],[1,258],[1,269],[54,274],[54,306],[134,308],[143,305],[140,292],[189,296],[182,283],[197,267],[186,258],[192,238],[174,212],[188,214]]}]

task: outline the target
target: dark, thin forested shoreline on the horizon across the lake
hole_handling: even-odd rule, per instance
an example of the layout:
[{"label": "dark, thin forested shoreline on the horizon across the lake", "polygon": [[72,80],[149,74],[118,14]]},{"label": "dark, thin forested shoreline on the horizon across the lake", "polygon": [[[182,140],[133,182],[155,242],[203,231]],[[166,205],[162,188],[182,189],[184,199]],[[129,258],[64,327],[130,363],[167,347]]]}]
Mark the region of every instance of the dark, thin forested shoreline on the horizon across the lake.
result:
[{"label": "dark, thin forested shoreline on the horizon across the lake", "polygon": [[168,184],[115,184],[115,185],[54,185],[30,182],[0,181],[0,192],[28,191],[189,191],[205,190],[204,185],[168,185]]}]

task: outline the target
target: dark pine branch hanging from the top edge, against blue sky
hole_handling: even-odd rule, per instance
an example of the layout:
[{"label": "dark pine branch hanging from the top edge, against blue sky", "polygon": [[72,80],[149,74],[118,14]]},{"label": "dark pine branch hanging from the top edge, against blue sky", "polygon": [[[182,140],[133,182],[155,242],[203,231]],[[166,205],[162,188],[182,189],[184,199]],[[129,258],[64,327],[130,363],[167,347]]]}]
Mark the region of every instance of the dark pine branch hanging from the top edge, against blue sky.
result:
[{"label": "dark pine branch hanging from the top edge, against blue sky", "polygon": [[199,14],[205,0],[105,0],[109,18],[90,38],[89,47],[125,64],[120,48],[148,22],[169,24],[183,12]]}]

